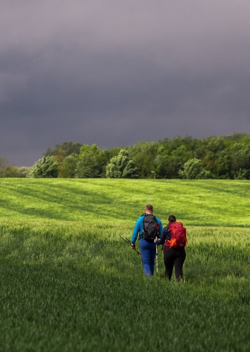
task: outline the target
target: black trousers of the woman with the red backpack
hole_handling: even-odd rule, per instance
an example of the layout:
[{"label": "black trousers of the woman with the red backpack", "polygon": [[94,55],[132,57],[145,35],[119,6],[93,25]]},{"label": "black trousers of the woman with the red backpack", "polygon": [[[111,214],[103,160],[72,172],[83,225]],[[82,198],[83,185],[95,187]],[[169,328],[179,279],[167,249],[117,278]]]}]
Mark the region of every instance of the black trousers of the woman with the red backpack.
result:
[{"label": "black trousers of the woman with the red backpack", "polygon": [[186,252],[184,248],[165,248],[164,250],[164,264],[165,264],[165,276],[171,280],[173,268],[175,271],[175,277],[177,281],[183,277],[182,266],[186,258]]}]

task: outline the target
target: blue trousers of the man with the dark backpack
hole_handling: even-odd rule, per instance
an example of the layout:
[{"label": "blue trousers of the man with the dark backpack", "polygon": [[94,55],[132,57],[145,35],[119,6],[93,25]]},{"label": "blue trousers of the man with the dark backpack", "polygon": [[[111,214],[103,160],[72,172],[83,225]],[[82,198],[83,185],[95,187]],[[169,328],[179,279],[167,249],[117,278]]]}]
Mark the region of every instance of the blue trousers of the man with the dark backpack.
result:
[{"label": "blue trousers of the man with the dark backpack", "polygon": [[147,242],[145,239],[142,239],[140,240],[140,249],[144,274],[152,276],[154,275],[156,245],[154,242]]}]

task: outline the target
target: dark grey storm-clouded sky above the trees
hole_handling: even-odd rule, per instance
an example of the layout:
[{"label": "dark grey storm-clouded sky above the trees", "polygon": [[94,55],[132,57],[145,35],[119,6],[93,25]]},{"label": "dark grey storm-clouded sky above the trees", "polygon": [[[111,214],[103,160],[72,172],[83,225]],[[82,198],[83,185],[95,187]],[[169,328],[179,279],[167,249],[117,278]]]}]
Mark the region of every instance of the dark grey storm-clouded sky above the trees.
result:
[{"label": "dark grey storm-clouded sky above the trees", "polygon": [[0,155],[250,132],[249,0],[0,0]]}]

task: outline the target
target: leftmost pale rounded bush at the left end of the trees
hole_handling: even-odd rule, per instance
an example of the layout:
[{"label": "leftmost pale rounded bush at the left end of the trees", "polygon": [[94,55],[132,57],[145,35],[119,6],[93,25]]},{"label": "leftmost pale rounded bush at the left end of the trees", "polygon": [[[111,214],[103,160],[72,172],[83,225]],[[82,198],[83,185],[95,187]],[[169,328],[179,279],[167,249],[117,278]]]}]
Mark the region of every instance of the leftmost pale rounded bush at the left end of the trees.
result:
[{"label": "leftmost pale rounded bush at the left end of the trees", "polygon": [[53,178],[57,177],[58,162],[53,156],[44,156],[39,159],[33,166],[33,177],[35,178]]}]

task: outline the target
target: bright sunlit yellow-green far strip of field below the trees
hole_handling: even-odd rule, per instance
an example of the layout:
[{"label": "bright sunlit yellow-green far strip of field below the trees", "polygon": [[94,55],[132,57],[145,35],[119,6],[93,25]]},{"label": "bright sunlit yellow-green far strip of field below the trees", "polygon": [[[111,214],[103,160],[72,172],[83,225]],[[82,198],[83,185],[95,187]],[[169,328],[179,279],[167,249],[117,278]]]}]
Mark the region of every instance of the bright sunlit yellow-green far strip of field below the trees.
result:
[{"label": "bright sunlit yellow-green far strip of field below the trees", "polygon": [[146,203],[166,223],[248,226],[250,182],[231,180],[1,179],[0,218],[133,222]]}]

